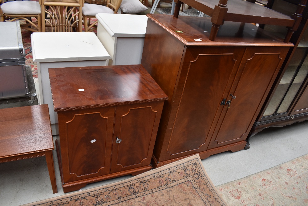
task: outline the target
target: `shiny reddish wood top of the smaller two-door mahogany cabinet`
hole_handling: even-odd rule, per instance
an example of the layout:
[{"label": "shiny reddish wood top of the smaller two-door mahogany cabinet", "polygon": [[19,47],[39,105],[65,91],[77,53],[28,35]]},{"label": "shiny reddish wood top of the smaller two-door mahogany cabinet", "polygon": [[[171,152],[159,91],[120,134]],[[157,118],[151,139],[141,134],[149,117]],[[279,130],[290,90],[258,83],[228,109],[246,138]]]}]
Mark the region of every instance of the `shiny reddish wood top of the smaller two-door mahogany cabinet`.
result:
[{"label": "shiny reddish wood top of the smaller two-door mahogany cabinet", "polygon": [[168,99],[142,65],[48,70],[55,111]]}]

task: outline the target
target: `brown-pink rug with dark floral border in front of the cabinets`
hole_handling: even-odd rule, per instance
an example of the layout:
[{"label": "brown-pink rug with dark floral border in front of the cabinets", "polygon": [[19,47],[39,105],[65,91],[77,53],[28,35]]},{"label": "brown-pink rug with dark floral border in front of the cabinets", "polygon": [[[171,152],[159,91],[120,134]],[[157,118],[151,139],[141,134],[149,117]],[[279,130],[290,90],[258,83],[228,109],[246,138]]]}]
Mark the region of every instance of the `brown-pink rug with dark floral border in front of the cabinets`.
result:
[{"label": "brown-pink rug with dark floral border in front of the cabinets", "polygon": [[135,177],[25,206],[226,206],[199,155]]}]

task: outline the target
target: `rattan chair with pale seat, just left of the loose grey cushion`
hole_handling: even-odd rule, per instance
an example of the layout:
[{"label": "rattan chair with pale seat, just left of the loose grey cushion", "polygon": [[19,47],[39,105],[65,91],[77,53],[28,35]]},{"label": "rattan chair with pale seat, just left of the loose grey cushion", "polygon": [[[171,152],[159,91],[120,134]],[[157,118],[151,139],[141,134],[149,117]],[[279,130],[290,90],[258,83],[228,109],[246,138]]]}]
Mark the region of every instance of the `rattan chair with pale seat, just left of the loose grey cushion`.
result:
[{"label": "rattan chair with pale seat, just left of the loose grey cushion", "polygon": [[[96,0],[99,1],[99,0]],[[91,24],[91,18],[96,18],[98,13],[116,14],[120,8],[122,0],[107,0],[107,6],[94,4],[92,0],[91,4],[84,4],[82,10],[83,25],[85,32],[93,32],[97,29],[95,24],[97,20]]]}]

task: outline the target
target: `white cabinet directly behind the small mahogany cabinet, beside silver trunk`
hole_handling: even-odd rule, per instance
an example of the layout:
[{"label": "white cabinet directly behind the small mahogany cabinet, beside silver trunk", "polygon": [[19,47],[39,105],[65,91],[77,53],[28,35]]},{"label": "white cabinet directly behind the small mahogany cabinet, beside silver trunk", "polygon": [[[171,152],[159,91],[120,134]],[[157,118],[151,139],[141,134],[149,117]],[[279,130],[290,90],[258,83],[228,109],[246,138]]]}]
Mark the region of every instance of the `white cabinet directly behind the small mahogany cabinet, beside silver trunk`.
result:
[{"label": "white cabinet directly behind the small mahogany cabinet, beside silver trunk", "polygon": [[106,66],[111,59],[94,33],[42,32],[31,35],[33,62],[39,77],[39,104],[48,104],[52,134],[57,134],[57,113],[54,111],[49,81],[49,68]]}]

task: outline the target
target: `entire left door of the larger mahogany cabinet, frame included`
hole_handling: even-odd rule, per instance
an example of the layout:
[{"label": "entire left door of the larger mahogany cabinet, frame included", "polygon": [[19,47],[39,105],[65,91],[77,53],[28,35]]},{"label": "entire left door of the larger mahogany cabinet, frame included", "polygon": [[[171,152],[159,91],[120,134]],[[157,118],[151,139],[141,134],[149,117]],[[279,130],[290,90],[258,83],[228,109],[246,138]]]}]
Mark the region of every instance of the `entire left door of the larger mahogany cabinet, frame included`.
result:
[{"label": "entire left door of the larger mahogany cabinet, frame included", "polygon": [[184,155],[183,151],[206,150],[206,138],[223,108],[222,99],[229,95],[226,89],[235,77],[245,48],[205,47],[187,51],[173,104],[175,117],[171,116],[169,127],[172,130],[166,132],[170,140],[167,148],[162,147],[169,153],[165,157],[168,159]]}]

